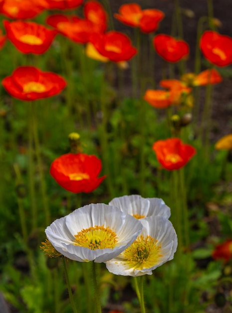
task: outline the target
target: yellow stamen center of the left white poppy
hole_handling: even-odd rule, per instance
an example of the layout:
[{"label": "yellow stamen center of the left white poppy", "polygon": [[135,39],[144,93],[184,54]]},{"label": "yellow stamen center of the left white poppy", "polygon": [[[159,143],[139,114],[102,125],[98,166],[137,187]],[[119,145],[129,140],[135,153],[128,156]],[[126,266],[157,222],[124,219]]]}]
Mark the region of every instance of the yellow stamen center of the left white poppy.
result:
[{"label": "yellow stamen center of the left white poppy", "polygon": [[75,245],[83,246],[91,250],[110,248],[117,243],[116,233],[108,227],[95,225],[82,229],[75,236]]}]

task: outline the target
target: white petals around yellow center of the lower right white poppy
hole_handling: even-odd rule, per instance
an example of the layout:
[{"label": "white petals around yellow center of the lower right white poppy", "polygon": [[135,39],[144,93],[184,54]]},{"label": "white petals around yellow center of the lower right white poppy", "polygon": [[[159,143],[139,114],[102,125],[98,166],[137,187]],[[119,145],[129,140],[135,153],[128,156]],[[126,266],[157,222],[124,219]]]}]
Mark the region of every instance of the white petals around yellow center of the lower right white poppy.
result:
[{"label": "white petals around yellow center of the lower right white poppy", "polygon": [[143,224],[143,230],[141,235],[144,237],[151,236],[157,240],[157,244],[161,244],[160,254],[158,261],[149,268],[136,269],[131,267],[131,263],[124,257],[122,252],[117,257],[106,262],[107,269],[116,275],[130,275],[130,276],[141,276],[144,274],[151,275],[152,270],[163,263],[173,259],[174,253],[177,249],[177,234],[176,231],[167,218],[163,216],[150,216],[140,219]]}]

